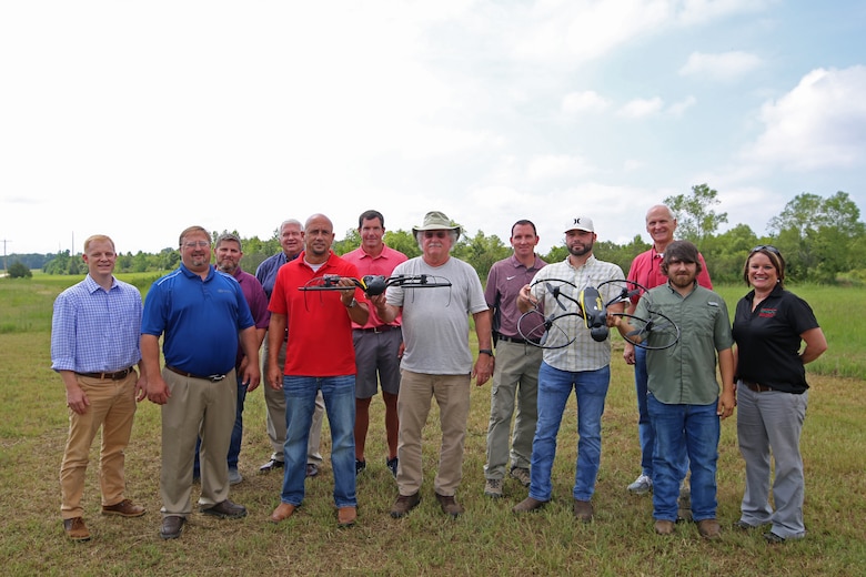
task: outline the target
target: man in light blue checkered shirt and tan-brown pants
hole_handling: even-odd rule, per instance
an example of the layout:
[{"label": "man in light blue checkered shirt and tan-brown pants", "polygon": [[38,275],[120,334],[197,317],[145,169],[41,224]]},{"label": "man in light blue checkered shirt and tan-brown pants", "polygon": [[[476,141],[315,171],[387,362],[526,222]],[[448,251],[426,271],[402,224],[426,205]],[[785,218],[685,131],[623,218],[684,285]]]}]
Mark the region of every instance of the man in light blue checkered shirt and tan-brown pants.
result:
[{"label": "man in light blue checkered shirt and tan-brown pants", "polygon": [[123,451],[132,433],[135,402],[144,398],[145,378],[133,366],[141,361],[141,293],[114,279],[118,255],[104,235],[84,241],[88,275],[54,301],[51,320],[51,368],[67,388],[69,438],[60,466],[60,513],[72,540],[90,539],[81,497],[90,446],[102,427],[100,486],[102,514],[144,515],[125,498]]}]

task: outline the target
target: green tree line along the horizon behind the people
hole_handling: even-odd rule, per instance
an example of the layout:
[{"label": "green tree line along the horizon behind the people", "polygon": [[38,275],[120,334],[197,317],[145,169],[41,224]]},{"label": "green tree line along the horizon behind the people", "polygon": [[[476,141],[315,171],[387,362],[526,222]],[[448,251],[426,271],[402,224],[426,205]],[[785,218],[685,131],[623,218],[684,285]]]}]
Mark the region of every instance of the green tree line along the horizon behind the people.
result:
[{"label": "green tree line along the horizon behind the people", "polygon": [[[762,244],[772,244],[782,252],[791,282],[862,284],[866,281],[866,225],[860,222],[860,211],[846,192],[839,191],[829,198],[798,194],[769,221],[768,234],[764,236],[758,236],[746,224],[737,224],[724,233],[717,233],[719,225],[727,223],[727,213],[716,212],[721,203],[718,192],[707,184],[694,185],[688,193],[668,196],[663,203],[671,206],[677,217],[676,237],[697,245],[714,282],[741,282],[746,257],[753,247]],[[278,232],[274,231],[266,240],[258,236],[243,240],[243,270],[254,272],[262,261],[281,250]],[[219,234],[214,231],[213,237]],[[421,254],[411,231],[387,231],[384,241],[410,259]],[[345,254],[360,244],[358,231],[350,230],[344,239],[334,242],[333,250],[336,254]],[[598,241],[594,254],[603,261],[618,264],[627,272],[632,260],[650,246],[641,234],[636,234],[626,244]],[[479,275],[486,279],[493,263],[505,259],[511,252],[507,239],[500,239],[495,234],[489,236],[477,231],[474,235],[462,235],[452,254],[472,264]],[[27,259],[22,260],[22,256]],[[567,256],[567,249],[556,245],[541,256],[547,262],[562,261]],[[37,257],[41,257],[41,262]],[[87,272],[80,254],[72,255],[70,251],[53,255],[19,255],[17,260],[12,255],[12,262],[16,276],[27,276],[30,269],[42,269],[48,274],[79,275]],[[117,270],[161,273],[175,269],[179,262],[178,251],[168,247],[157,254],[120,254]],[[12,276],[13,266],[9,269]]]}]

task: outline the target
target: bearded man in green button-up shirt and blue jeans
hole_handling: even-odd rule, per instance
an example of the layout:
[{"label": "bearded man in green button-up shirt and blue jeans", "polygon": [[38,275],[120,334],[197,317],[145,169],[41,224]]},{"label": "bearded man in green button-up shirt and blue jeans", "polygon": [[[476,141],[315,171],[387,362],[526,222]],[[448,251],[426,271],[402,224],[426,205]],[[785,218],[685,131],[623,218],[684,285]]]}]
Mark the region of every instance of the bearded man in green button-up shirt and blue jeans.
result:
[{"label": "bearded man in green button-up shirt and blue jeans", "polygon": [[[658,312],[679,326],[679,341],[671,348],[648,351],[647,407],[656,434],[653,454],[653,517],[655,530],[669,535],[677,517],[679,473],[676,456],[685,446],[692,470],[692,516],[701,536],[719,536],[716,520],[716,463],[719,418],[734,412],[734,338],[725,301],[696,282],[701,272],[697,247],[687,241],[665,250],[662,272],[667,284],[650,290],[637,303],[635,315]],[[634,331],[626,317],[613,324],[626,335]],[[634,337],[632,337],[634,338]],[[653,345],[654,335],[648,334]],[[722,373],[722,395],[716,381],[716,355]]]}]

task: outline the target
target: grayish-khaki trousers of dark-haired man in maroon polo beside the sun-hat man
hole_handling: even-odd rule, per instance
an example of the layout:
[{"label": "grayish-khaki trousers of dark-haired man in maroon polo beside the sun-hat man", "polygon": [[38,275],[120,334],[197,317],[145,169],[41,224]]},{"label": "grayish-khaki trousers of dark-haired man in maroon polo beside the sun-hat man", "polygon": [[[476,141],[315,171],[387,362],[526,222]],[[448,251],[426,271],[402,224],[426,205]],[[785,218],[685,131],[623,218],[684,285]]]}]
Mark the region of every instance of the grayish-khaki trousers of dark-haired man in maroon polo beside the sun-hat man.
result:
[{"label": "grayish-khaki trousers of dark-haired man in maroon polo beside the sun-hat man", "polygon": [[[484,476],[489,479],[505,477],[505,466],[511,455],[511,468],[530,468],[532,439],[538,419],[538,367],[542,350],[521,343],[500,341],[496,345],[496,365],[490,397],[487,425],[487,463]],[[508,433],[514,406],[514,435],[508,451]]]}]

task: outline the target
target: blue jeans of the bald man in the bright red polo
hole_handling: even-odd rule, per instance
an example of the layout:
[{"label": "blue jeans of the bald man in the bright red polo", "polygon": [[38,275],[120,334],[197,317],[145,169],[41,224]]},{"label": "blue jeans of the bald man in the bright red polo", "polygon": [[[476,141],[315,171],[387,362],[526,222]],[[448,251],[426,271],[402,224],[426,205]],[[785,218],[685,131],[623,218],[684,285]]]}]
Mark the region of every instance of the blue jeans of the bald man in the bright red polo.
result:
[{"label": "blue jeans of the bald man in the bright red polo", "polygon": [[331,425],[331,467],[334,472],[334,504],[356,507],[355,497],[355,376],[283,376],[285,395],[285,472],[280,500],[294,506],[304,499],[306,444],[322,391]]}]

